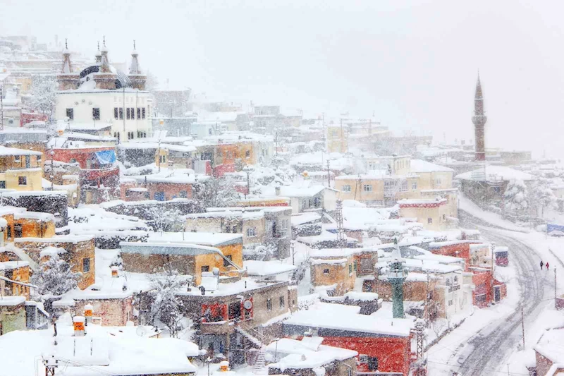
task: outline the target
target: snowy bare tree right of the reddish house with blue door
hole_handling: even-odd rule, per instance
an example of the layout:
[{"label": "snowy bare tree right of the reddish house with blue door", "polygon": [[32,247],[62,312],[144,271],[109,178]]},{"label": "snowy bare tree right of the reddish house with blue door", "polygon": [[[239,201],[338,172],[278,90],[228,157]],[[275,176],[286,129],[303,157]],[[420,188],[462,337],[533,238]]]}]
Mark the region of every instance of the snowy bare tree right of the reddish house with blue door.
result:
[{"label": "snowy bare tree right of the reddish house with blue door", "polygon": [[235,190],[235,181],[231,176],[198,181],[192,189],[192,198],[202,207],[230,206],[239,198],[239,193]]}]

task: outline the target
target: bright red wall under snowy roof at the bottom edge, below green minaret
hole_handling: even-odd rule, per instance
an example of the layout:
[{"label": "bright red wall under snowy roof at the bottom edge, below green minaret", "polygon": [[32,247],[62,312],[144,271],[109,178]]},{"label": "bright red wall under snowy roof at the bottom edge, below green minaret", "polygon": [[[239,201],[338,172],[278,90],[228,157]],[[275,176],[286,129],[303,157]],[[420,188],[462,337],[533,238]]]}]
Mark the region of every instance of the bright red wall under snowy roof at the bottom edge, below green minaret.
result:
[{"label": "bright red wall under snowy roof at the bottom edge, below green minaret", "polygon": [[[410,372],[410,337],[330,337],[324,336],[323,344],[357,351],[362,355],[378,358],[380,372]],[[359,365],[358,371],[367,371],[367,365]]]}]

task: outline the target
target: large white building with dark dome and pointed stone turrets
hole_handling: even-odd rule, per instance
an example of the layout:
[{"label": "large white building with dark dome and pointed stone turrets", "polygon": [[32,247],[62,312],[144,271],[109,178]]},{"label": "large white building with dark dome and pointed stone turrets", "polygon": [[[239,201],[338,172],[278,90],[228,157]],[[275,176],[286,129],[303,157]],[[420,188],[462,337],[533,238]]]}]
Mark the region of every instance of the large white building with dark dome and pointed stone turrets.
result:
[{"label": "large white building with dark dome and pointed stone turrets", "polygon": [[97,51],[96,63],[80,73],[73,72],[71,54],[65,49],[61,73],[57,75],[56,120],[68,121],[69,129],[84,133],[99,133],[110,127],[118,141],[150,135],[152,97],[145,90],[147,76],[140,71],[133,47],[128,74],[109,65],[105,43]]}]

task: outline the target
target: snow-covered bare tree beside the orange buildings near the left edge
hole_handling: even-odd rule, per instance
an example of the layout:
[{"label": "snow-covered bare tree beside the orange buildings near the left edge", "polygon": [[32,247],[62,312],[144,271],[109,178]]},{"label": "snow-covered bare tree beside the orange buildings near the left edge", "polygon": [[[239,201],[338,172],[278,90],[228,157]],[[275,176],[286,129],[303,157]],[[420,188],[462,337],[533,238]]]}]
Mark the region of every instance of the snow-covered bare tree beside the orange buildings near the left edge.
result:
[{"label": "snow-covered bare tree beside the orange buildings near the left edge", "polygon": [[81,273],[72,272],[68,262],[59,255],[51,255],[49,260],[42,262],[39,269],[33,273],[31,281],[39,287],[40,295],[61,296],[63,293],[77,288]]}]

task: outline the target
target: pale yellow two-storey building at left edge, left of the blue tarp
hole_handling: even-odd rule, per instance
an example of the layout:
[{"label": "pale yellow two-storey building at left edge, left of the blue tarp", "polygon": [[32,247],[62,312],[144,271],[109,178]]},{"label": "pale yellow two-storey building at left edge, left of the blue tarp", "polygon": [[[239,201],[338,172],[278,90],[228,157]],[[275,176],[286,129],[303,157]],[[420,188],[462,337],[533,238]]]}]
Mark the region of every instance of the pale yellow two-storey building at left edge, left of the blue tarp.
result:
[{"label": "pale yellow two-storey building at left edge, left of the blue tarp", "polygon": [[0,146],[0,188],[43,190],[42,153]]}]

